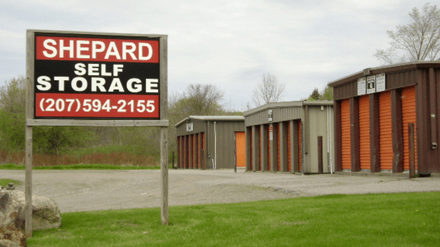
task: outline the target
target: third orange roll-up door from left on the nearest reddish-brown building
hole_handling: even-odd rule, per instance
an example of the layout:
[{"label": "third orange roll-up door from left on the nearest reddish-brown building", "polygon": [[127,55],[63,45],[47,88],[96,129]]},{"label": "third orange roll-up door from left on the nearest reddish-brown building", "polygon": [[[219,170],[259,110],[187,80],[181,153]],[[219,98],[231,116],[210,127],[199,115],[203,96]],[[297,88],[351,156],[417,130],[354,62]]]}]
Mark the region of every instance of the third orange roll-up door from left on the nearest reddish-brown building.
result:
[{"label": "third orange roll-up door from left on the nearest reddish-brown building", "polygon": [[393,169],[393,126],[391,124],[391,91],[379,94],[380,169]]}]

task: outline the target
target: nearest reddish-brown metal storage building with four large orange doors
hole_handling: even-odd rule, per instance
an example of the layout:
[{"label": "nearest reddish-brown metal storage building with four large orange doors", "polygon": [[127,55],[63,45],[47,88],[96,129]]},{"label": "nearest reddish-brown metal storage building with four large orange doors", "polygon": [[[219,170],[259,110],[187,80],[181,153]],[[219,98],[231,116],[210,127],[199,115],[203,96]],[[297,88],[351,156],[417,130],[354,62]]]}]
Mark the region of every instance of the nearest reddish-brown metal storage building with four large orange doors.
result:
[{"label": "nearest reddish-brown metal storage building with four large orange doors", "polygon": [[368,68],[330,86],[337,171],[408,170],[414,123],[418,173],[440,172],[440,62]]}]

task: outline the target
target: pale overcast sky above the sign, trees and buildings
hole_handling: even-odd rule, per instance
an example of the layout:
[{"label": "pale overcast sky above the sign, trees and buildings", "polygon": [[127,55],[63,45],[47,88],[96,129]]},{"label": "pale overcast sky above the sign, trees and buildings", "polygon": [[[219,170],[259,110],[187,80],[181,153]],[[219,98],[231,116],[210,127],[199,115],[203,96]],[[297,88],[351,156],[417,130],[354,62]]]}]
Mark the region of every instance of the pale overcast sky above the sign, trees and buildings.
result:
[{"label": "pale overcast sky above the sign, trees and buildings", "polygon": [[[435,2],[431,2],[436,4]],[[415,0],[0,0],[0,86],[25,75],[26,29],[168,35],[168,93],[215,84],[251,103],[264,73],[283,101],[368,67]]]}]

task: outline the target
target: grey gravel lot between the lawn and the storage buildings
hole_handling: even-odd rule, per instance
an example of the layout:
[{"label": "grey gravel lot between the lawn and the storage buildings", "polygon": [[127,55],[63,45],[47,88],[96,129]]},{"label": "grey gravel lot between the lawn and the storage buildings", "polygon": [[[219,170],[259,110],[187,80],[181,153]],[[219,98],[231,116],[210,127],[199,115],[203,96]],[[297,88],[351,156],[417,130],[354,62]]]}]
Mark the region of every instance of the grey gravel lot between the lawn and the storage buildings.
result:
[{"label": "grey gravel lot between the lawn and the storage buildings", "polygon": [[[0,178],[24,181],[24,171],[0,170]],[[61,212],[159,207],[161,201],[160,170],[34,170],[32,181],[33,195],[54,199]],[[24,191],[24,185],[17,189]],[[440,191],[440,177],[169,170],[169,206],[421,191]]]}]

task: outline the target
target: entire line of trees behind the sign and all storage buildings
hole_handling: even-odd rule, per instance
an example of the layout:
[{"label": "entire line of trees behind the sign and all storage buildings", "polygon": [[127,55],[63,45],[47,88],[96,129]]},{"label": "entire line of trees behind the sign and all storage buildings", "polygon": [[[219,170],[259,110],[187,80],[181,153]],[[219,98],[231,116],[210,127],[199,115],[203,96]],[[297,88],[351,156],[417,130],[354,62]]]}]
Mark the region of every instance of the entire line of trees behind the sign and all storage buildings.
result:
[{"label": "entire line of trees behind the sign and all storage buildings", "polygon": [[[440,60],[440,11],[437,5],[426,3],[421,11],[413,8],[410,21],[398,25],[396,31],[387,31],[390,47],[377,49],[374,56],[384,64],[423,60]],[[0,151],[24,150],[25,78],[9,80],[0,88]],[[248,109],[284,97],[286,84],[272,74],[264,74],[252,92]],[[176,150],[174,125],[190,115],[241,115],[226,110],[222,104],[224,93],[212,84],[190,84],[183,92],[169,97],[169,150]],[[332,100],[333,89],[326,85],[314,88],[303,100]],[[105,145],[127,145],[137,154],[159,157],[160,130],[158,127],[84,127],[35,126],[33,150],[36,153],[61,155],[73,149]]]}]

